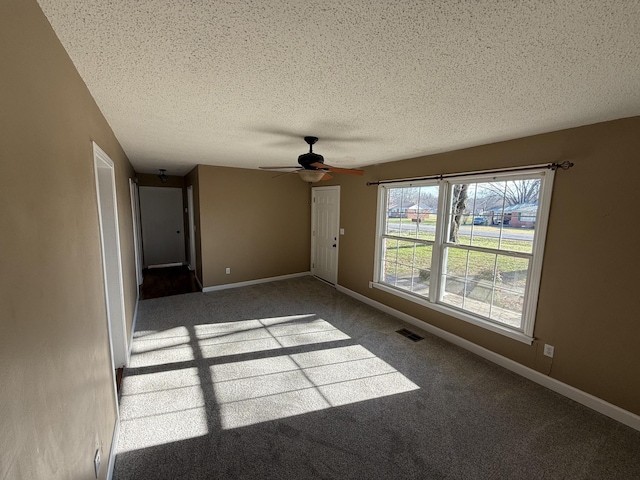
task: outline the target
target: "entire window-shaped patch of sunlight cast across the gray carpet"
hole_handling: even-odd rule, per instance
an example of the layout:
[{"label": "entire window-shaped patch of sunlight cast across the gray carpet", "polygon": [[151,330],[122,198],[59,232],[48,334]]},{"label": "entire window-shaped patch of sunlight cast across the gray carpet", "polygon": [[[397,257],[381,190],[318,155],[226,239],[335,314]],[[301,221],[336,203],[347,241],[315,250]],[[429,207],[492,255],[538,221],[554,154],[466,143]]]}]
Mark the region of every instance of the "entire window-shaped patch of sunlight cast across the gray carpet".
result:
[{"label": "entire window-shaped patch of sunlight cast across the gray carpet", "polygon": [[119,451],[419,388],[353,343],[315,314],[144,332],[123,380]]}]

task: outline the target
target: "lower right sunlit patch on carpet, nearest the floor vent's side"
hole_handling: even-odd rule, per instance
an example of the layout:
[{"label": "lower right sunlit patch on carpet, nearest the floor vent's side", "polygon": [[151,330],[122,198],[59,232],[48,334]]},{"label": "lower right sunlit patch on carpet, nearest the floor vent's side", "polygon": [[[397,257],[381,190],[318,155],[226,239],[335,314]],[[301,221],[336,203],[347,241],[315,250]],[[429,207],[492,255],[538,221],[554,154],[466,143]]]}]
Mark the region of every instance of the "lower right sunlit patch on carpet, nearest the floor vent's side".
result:
[{"label": "lower right sunlit patch on carpet, nearest the floor vent's side", "polygon": [[211,366],[223,429],[419,387],[360,345]]}]

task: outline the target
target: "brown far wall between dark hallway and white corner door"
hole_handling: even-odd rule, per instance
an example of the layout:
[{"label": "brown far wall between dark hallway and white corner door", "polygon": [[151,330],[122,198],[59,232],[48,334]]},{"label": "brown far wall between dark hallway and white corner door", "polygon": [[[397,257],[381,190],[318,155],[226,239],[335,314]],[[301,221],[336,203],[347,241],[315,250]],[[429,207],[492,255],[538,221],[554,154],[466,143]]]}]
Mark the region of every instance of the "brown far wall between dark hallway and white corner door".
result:
[{"label": "brown far wall between dark hallway and white corner door", "polygon": [[309,185],[273,175],[198,165],[204,287],[309,271]]}]

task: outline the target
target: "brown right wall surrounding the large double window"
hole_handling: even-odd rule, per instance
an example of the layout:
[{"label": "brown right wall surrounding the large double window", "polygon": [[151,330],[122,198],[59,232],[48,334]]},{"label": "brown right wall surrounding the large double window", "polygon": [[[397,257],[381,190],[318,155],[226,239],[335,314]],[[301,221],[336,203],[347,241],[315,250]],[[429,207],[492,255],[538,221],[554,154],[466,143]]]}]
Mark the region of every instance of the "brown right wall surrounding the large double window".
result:
[{"label": "brown right wall surrounding the large double window", "polygon": [[[338,283],[640,414],[640,223],[628,214],[640,192],[639,132],[635,117],[372,166],[364,179],[340,176]],[[575,167],[556,174],[533,345],[368,288],[377,187],[365,182],[562,160]],[[553,362],[545,343],[555,346]]]}]

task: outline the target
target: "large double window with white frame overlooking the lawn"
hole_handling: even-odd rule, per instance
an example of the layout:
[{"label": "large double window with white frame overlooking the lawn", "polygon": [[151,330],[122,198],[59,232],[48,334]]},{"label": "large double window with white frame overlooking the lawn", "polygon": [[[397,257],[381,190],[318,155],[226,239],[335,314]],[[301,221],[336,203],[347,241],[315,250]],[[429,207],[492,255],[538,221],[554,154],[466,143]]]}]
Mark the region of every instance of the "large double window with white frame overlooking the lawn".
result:
[{"label": "large double window with white frame overlooking the lawn", "polygon": [[553,173],[380,185],[374,286],[531,343]]}]

